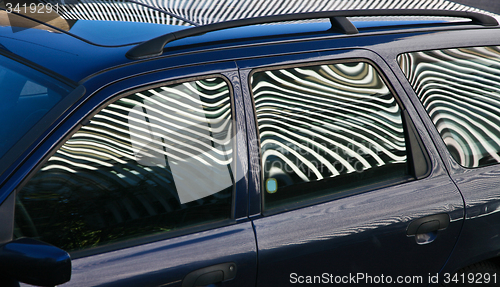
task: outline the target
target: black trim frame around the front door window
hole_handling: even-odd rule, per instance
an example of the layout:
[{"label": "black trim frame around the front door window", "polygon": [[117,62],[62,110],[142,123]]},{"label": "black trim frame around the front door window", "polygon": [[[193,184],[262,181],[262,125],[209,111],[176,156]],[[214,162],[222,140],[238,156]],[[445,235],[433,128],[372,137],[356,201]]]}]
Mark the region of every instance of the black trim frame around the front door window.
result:
[{"label": "black trim frame around the front door window", "polygon": [[[31,171],[28,173],[27,176],[23,178],[23,180],[15,187],[11,195],[15,194],[15,200],[17,200],[18,196],[18,191],[22,190],[22,188],[33,178],[33,176],[42,168],[42,166],[48,162],[48,160],[75,134],[77,133],[83,126],[88,124],[90,120],[99,112],[101,112],[104,108],[106,108],[108,105],[111,103],[114,103],[118,101],[121,98],[127,97],[129,95],[132,95],[137,92],[141,92],[144,90],[148,89],[154,89],[158,87],[163,87],[167,85],[175,85],[175,84],[182,84],[186,82],[193,82],[197,80],[203,80],[203,79],[210,79],[210,78],[221,78],[224,82],[226,82],[228,86],[228,91],[229,91],[229,98],[230,98],[230,105],[231,105],[231,117],[233,121],[236,120],[236,110],[235,110],[235,101],[234,101],[234,88],[232,85],[232,82],[230,79],[227,78],[227,76],[219,73],[208,73],[202,76],[191,76],[191,77],[186,77],[186,78],[178,78],[174,80],[164,80],[164,81],[159,81],[155,82],[153,84],[145,84],[141,85],[139,87],[135,87],[132,89],[128,89],[122,92],[117,93],[115,96],[112,96],[108,99],[106,99],[104,102],[100,103],[98,106],[94,107],[92,111],[89,111],[89,113],[83,117],[74,127],[71,129],[71,131],[68,131],[64,137],[61,137],[57,141],[55,145],[52,146],[51,150],[48,151],[43,159],[38,161],[38,163],[31,169]],[[232,126],[232,132],[233,136],[236,135],[237,133],[237,126],[233,125]],[[236,141],[233,142],[233,148],[236,150],[237,143]],[[236,166],[237,164],[237,156],[234,156],[233,163]],[[237,182],[234,182],[233,187],[232,187],[232,192],[231,192],[231,211],[230,211],[230,217],[227,219],[222,219],[218,220],[215,222],[210,222],[210,223],[200,223],[188,227],[181,227],[179,229],[173,230],[173,231],[167,231],[167,232],[161,232],[161,233],[155,233],[155,234],[149,234],[149,235],[140,235],[138,237],[134,238],[129,238],[121,241],[116,241],[112,243],[105,243],[103,245],[95,246],[95,247],[88,247],[84,248],[81,250],[75,250],[75,251],[70,251],[69,254],[72,259],[77,259],[77,258],[82,258],[82,257],[87,257],[87,256],[92,256],[92,255],[97,255],[100,253],[105,253],[105,252],[110,252],[110,251],[115,251],[123,248],[128,248],[128,247],[133,247],[133,246],[138,246],[142,244],[147,244],[147,243],[152,243],[156,241],[161,241],[165,239],[170,239],[174,237],[179,237],[183,235],[188,235],[192,233],[197,233],[197,232],[202,232],[202,231],[207,231],[219,227],[224,227],[232,224],[236,224],[237,220],[235,218],[235,206],[236,206],[236,186]],[[15,202],[13,200],[13,202]],[[15,207],[13,208],[14,212],[12,214],[12,222],[14,225],[14,217],[15,217]]]}]

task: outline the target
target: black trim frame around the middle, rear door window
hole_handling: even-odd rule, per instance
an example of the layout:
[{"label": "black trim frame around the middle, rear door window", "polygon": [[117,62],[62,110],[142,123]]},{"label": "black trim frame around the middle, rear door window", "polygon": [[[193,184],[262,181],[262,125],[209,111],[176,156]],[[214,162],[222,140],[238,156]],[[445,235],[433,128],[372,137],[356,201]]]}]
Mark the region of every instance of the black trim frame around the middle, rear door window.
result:
[{"label": "black trim frame around the middle, rear door window", "polygon": [[[253,94],[253,88],[252,88],[252,77],[255,73],[262,72],[262,71],[275,71],[275,70],[281,70],[281,69],[290,69],[290,68],[300,68],[300,67],[310,67],[310,66],[320,66],[320,65],[332,65],[332,64],[344,64],[344,63],[366,63],[371,65],[375,71],[378,73],[378,76],[381,78],[381,80],[384,82],[386,87],[389,89],[391,92],[392,96],[394,97],[397,105],[399,106],[401,110],[401,119],[403,123],[403,128],[404,128],[404,136],[405,136],[405,146],[406,146],[406,156],[407,156],[407,169],[408,169],[408,175],[404,178],[401,178],[400,180],[398,179],[393,179],[393,180],[386,180],[386,181],[380,181],[374,184],[370,184],[368,186],[361,186],[361,187],[356,187],[356,188],[350,188],[346,189],[342,192],[339,193],[331,193],[327,195],[322,195],[319,197],[312,197],[300,202],[296,203],[289,203],[289,204],[284,204],[282,206],[278,207],[273,207],[270,209],[265,209],[265,187],[264,187],[264,170],[262,166],[262,152],[261,152],[261,142],[260,142],[260,131],[259,131],[259,126],[257,122],[257,110],[255,107],[255,97]],[[269,65],[269,66],[264,66],[264,67],[258,67],[258,68],[251,68],[250,72],[248,73],[247,76],[247,85],[248,85],[248,90],[250,93],[250,99],[251,99],[251,106],[252,106],[252,112],[253,112],[253,120],[255,123],[255,132],[256,132],[256,137],[258,141],[258,159],[259,159],[259,176],[260,176],[260,190],[261,190],[261,195],[260,195],[260,208],[261,208],[261,214],[263,216],[269,216],[273,214],[278,214],[282,212],[286,212],[289,210],[295,210],[299,208],[304,208],[344,197],[349,197],[353,196],[356,194],[361,194],[365,192],[370,192],[373,190],[381,189],[381,188],[386,188],[386,187],[391,187],[395,186],[398,184],[404,184],[407,182],[412,182],[415,180],[420,180],[428,177],[431,174],[431,160],[428,155],[428,151],[425,149],[424,144],[422,142],[422,139],[420,138],[420,135],[418,134],[414,123],[411,120],[411,117],[409,116],[409,113],[405,106],[403,105],[403,102],[399,98],[399,96],[396,93],[396,90],[394,87],[391,85],[391,82],[388,80],[388,78],[385,76],[383,73],[382,69],[371,59],[368,58],[363,58],[363,57],[352,57],[352,58],[340,58],[340,59],[332,59],[332,60],[319,60],[319,61],[305,61],[305,62],[298,62],[298,63],[292,63],[292,64],[278,64],[278,65]],[[418,159],[418,156],[423,156],[423,162],[426,164],[425,169],[423,171],[417,171],[419,168],[416,165],[416,161]]]}]

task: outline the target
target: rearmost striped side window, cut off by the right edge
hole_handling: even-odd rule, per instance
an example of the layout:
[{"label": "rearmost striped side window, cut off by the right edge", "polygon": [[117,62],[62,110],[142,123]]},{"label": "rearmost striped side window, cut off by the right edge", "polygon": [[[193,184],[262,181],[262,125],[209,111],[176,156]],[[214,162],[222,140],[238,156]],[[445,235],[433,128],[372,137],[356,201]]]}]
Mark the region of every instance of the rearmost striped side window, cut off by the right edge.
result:
[{"label": "rearmost striped side window, cut off by the right edge", "polygon": [[460,165],[500,162],[499,47],[407,53],[398,62]]}]

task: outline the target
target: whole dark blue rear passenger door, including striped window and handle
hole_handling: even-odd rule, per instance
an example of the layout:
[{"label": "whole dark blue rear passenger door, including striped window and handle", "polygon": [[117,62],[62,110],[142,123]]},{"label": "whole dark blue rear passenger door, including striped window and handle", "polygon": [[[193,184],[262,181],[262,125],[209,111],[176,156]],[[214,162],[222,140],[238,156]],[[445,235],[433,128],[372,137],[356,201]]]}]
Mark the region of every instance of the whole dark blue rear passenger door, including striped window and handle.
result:
[{"label": "whole dark blue rear passenger door, including striped window and handle", "polygon": [[352,50],[238,66],[257,285],[437,282],[463,201],[384,61]]}]

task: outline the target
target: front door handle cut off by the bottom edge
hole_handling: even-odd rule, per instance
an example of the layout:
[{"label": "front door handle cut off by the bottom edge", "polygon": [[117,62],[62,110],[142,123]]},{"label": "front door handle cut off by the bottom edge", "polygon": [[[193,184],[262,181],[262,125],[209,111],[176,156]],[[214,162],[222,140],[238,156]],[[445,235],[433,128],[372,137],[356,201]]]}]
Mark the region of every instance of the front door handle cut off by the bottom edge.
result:
[{"label": "front door handle cut off by the bottom edge", "polygon": [[206,286],[233,279],[235,276],[236,263],[221,263],[189,273],[182,280],[182,287]]}]

